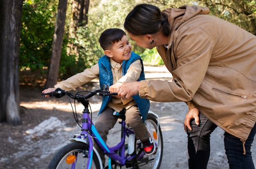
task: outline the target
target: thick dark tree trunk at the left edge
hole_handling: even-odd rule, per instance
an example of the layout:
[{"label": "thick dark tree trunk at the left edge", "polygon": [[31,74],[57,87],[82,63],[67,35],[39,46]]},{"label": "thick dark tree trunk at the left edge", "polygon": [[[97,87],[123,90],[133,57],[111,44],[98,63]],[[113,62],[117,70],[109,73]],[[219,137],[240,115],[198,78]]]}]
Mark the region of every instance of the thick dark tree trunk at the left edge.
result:
[{"label": "thick dark tree trunk at the left edge", "polygon": [[0,121],[20,125],[19,49],[23,0],[0,0]]}]

